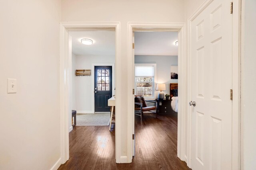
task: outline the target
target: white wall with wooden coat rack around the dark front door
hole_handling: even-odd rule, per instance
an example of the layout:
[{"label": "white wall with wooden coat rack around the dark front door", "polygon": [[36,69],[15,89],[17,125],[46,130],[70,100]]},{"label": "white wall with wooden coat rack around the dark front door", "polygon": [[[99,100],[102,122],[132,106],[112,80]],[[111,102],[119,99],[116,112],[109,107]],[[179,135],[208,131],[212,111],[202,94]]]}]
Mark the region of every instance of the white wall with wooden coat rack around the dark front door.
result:
[{"label": "white wall with wooden coat rack around the dark front door", "polygon": [[[73,57],[73,56],[72,56]],[[92,68],[92,63],[115,63],[114,55],[105,55],[105,56],[84,56],[84,55],[76,55],[76,64],[72,68],[72,70],[84,70],[84,69],[94,69]],[[94,96],[92,96],[92,83],[91,76],[74,76],[73,84],[75,85],[75,104],[72,109],[75,109],[77,113],[94,113],[92,108],[92,100],[94,100]],[[114,75],[113,75],[114,78]],[[114,83],[113,83],[114,85]]]}]

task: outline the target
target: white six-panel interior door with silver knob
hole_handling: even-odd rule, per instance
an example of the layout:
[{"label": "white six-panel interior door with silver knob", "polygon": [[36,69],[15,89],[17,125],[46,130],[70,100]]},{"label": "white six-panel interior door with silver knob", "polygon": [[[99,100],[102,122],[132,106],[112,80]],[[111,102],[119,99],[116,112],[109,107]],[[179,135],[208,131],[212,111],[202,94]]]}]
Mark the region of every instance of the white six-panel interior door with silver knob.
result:
[{"label": "white six-panel interior door with silver knob", "polygon": [[194,170],[232,167],[232,14],[213,0],[191,22],[192,152]]}]

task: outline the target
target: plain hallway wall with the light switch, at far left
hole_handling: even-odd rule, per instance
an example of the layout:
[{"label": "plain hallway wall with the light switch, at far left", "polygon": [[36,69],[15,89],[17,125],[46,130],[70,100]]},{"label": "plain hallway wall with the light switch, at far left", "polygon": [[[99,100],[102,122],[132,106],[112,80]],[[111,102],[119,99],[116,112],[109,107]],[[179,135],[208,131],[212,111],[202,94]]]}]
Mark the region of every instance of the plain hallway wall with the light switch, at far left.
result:
[{"label": "plain hallway wall with the light switch, at far left", "polygon": [[0,23],[0,169],[49,170],[60,158],[60,0],[1,1]]}]

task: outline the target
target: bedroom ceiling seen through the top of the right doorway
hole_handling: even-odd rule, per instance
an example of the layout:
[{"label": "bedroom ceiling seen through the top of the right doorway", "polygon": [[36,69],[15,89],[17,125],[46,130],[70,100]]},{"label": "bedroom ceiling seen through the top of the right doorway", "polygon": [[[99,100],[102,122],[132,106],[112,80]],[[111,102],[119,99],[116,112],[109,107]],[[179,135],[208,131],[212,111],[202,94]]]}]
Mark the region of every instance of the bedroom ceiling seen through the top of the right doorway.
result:
[{"label": "bedroom ceiling seen through the top of the right doorway", "polygon": [[178,32],[135,32],[135,55],[178,55]]}]

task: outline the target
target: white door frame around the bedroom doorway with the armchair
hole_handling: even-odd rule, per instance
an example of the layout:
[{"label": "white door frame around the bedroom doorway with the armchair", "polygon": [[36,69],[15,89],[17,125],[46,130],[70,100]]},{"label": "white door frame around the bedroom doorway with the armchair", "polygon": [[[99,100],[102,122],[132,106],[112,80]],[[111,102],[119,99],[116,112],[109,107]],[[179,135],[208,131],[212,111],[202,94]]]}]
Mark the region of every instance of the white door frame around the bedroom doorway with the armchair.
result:
[{"label": "white door frame around the bedroom doorway with the armchair", "polygon": [[133,55],[133,31],[177,31],[178,32],[178,88],[179,88],[179,114],[178,114],[178,137],[177,137],[177,156],[188,162],[186,155],[186,114],[187,114],[187,60],[185,55],[185,23],[146,23],[128,22],[128,132],[127,132],[127,160],[132,161],[133,153],[133,129],[134,129],[134,55]]}]

